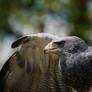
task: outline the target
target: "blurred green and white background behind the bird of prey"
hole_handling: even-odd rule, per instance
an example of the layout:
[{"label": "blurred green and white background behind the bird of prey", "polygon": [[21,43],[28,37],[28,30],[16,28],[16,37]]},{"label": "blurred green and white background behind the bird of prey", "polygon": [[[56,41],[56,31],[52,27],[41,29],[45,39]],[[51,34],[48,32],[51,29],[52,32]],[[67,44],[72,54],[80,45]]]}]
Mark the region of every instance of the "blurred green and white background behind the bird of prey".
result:
[{"label": "blurred green and white background behind the bird of prey", "polygon": [[20,36],[76,35],[92,45],[92,0],[0,0],[0,67]]}]

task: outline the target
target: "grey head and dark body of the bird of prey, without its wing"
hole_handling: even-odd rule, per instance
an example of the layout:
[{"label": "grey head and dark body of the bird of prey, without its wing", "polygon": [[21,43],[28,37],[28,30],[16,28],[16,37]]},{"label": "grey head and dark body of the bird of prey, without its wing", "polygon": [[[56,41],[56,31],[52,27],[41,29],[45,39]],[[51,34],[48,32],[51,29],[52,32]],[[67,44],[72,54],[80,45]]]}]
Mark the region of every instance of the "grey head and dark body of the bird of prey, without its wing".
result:
[{"label": "grey head and dark body of the bird of prey, without its wing", "polygon": [[67,86],[76,92],[92,92],[92,47],[70,36],[50,42],[44,52],[59,56],[59,70]]}]

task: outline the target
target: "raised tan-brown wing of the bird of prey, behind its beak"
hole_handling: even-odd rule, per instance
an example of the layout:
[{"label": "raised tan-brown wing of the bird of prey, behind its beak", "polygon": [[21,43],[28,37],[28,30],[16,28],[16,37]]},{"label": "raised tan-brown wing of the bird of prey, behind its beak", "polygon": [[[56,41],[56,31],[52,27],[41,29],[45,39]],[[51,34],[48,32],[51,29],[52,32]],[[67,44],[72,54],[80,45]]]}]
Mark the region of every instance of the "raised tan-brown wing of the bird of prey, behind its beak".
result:
[{"label": "raised tan-brown wing of the bird of prey, behind its beak", "polygon": [[44,54],[44,47],[59,37],[48,33],[17,39],[16,48],[0,71],[0,92],[72,92],[58,69],[59,56]]}]

